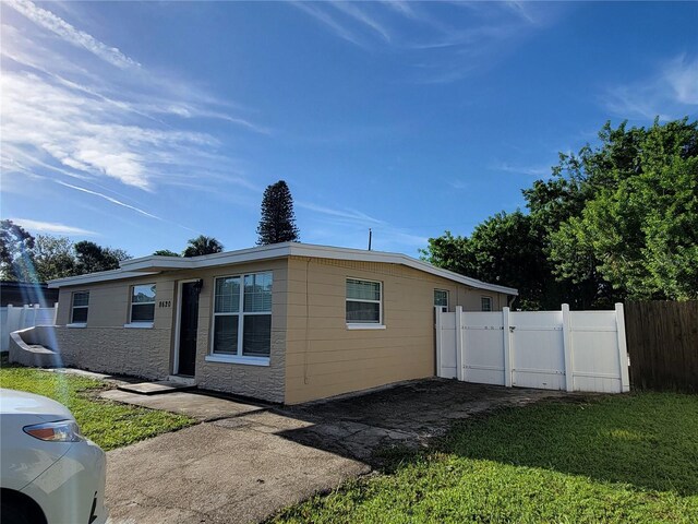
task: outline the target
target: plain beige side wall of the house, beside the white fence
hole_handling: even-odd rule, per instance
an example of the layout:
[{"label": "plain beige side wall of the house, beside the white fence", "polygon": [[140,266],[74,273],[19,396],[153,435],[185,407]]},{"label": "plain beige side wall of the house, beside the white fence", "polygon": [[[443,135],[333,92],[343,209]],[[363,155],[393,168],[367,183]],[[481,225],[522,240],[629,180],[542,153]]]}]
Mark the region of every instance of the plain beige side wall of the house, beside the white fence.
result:
[{"label": "plain beige side wall of the house, beside the white fence", "polygon": [[[346,279],[383,283],[384,330],[349,330]],[[390,382],[434,376],[434,289],[449,308],[493,308],[506,296],[481,293],[397,264],[291,257],[288,267],[286,403],[294,404]]]}]

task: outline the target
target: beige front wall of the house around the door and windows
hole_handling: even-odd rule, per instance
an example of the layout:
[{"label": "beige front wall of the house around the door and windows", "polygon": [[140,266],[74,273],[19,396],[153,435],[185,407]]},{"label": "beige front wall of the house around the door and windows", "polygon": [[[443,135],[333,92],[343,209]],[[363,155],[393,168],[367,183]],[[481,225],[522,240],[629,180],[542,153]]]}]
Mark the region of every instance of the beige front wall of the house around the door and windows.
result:
[{"label": "beige front wall of the house around the door and windows", "polygon": [[[210,352],[214,279],[217,276],[272,271],[272,349],[269,366],[207,361]],[[95,371],[166,378],[173,370],[178,283],[203,278],[198,302],[195,378],[200,388],[272,402],[284,402],[287,318],[287,261],[269,260],[210,270],[167,272],[129,281],[63,287],[59,296],[57,341],[65,364]],[[156,284],[152,329],[129,329],[131,286]],[[86,327],[67,327],[73,291],[89,291]],[[168,302],[169,307],[159,307]]]}]

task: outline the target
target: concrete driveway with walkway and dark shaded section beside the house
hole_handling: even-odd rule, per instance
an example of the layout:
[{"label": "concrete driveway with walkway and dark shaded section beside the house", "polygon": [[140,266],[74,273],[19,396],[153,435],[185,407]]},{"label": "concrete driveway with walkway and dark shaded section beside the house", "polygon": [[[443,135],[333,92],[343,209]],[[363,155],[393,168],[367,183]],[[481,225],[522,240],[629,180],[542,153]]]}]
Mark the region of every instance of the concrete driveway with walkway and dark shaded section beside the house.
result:
[{"label": "concrete driveway with walkway and dark shaded section beside the house", "polygon": [[203,420],[108,453],[110,522],[258,522],[370,472],[382,446],[428,445],[455,419],[561,395],[443,379],[285,408],[196,393],[107,392]]}]

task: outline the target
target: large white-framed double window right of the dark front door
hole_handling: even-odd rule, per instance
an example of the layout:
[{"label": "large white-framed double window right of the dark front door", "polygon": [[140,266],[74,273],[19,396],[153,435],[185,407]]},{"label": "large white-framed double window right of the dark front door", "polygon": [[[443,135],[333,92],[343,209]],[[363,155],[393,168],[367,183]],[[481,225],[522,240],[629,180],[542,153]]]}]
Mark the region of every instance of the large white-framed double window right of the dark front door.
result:
[{"label": "large white-framed double window right of the dark front door", "polygon": [[[272,273],[216,278],[214,355],[264,358],[272,349]],[[241,360],[244,361],[244,360]]]}]

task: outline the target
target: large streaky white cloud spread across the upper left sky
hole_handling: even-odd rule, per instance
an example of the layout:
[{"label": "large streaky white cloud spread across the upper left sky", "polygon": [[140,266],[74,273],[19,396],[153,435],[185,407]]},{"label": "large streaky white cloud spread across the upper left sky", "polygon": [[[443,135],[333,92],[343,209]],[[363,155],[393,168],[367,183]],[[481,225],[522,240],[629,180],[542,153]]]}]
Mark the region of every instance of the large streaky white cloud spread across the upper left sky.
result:
[{"label": "large streaky white cloud spread across the upper left sky", "polygon": [[[236,114],[244,109],[184,79],[152,73],[27,0],[8,5],[33,24],[14,26],[15,16],[2,25],[3,165],[148,192],[210,180],[256,189],[232,167],[238,159],[198,126],[217,119],[241,132],[270,134]],[[82,60],[88,57],[99,60]]]}]

